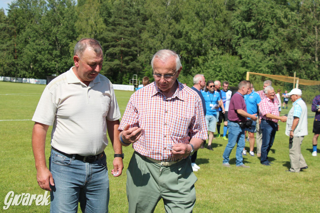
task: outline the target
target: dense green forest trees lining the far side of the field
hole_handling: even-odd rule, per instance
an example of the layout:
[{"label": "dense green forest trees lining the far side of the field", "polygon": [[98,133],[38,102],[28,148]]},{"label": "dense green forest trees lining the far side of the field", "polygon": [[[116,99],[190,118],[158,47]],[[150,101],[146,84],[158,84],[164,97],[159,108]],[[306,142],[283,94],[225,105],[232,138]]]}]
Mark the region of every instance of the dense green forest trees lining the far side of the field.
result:
[{"label": "dense green forest trees lining the far side of the field", "polygon": [[320,80],[319,27],[313,0],[15,0],[0,10],[0,75],[65,72],[76,41],[93,37],[113,83],[152,77],[160,49],[181,55],[190,86],[199,72],[231,85],[246,71]]}]

